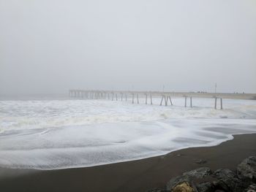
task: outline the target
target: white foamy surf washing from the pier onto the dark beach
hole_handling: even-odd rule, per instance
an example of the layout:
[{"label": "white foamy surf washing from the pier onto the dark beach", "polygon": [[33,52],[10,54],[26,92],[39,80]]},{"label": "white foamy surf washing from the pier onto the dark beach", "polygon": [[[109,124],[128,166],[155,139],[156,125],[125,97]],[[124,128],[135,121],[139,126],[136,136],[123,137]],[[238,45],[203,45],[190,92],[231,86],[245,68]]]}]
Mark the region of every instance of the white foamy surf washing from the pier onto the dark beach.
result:
[{"label": "white foamy surf washing from the pier onto the dark beach", "polygon": [[[140,103],[143,100],[140,99]],[[184,99],[175,106],[131,101],[0,101],[0,166],[64,169],[163,155],[217,145],[232,134],[256,132],[256,102]]]}]

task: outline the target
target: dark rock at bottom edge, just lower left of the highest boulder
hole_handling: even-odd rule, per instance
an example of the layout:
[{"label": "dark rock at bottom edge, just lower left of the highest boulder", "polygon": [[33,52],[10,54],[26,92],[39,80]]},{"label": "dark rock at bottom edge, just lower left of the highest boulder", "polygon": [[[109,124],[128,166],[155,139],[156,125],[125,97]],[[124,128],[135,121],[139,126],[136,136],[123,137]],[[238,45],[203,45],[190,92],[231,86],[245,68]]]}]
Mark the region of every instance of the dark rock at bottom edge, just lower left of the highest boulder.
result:
[{"label": "dark rock at bottom edge, just lower left of the highest boulder", "polygon": [[243,191],[244,184],[238,179],[236,173],[230,171],[230,169],[218,169],[212,176],[218,179],[214,185],[219,189]]}]

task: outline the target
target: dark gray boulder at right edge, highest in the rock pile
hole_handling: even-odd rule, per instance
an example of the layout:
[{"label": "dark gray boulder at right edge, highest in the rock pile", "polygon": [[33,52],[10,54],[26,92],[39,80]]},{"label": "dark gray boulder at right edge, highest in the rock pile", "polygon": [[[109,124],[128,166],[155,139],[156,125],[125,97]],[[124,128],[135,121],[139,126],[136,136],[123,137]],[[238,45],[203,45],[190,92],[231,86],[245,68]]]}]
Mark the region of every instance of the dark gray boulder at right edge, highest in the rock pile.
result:
[{"label": "dark gray boulder at right edge, highest in the rock pile", "polygon": [[251,156],[244,159],[237,166],[237,174],[241,180],[247,180],[256,183],[256,157]]}]

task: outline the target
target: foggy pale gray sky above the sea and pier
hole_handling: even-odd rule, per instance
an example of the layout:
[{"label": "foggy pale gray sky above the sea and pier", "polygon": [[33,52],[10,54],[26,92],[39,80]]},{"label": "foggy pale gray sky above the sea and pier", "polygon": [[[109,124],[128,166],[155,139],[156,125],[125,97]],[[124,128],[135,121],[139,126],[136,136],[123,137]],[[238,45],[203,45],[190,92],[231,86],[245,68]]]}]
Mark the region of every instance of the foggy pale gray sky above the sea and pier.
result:
[{"label": "foggy pale gray sky above the sea and pier", "polygon": [[256,93],[256,1],[0,0],[0,94]]}]

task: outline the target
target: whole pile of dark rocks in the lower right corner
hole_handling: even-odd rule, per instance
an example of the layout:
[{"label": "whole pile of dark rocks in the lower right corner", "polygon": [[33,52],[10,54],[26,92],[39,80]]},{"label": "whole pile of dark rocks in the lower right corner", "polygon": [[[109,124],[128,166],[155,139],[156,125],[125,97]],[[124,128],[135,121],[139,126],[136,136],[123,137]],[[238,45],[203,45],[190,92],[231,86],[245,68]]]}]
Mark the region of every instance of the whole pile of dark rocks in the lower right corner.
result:
[{"label": "whole pile of dark rocks in the lower right corner", "polygon": [[[207,178],[211,178],[207,180]],[[203,182],[200,180],[204,180]],[[166,189],[152,189],[148,192],[256,192],[256,157],[244,159],[237,171],[200,167],[173,177]]]}]

